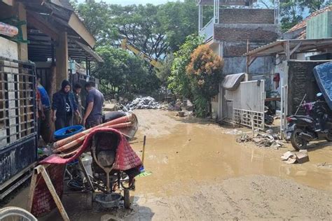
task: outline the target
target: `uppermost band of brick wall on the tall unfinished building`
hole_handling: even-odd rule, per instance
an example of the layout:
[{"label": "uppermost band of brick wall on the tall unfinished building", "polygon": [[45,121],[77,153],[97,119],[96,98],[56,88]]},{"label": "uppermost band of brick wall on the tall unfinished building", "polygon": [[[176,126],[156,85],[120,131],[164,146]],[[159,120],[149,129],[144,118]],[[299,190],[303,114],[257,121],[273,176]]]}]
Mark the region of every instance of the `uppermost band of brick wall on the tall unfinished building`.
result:
[{"label": "uppermost band of brick wall on the tall unfinished building", "polygon": [[275,24],[275,10],[225,8],[219,11],[220,24]]}]

